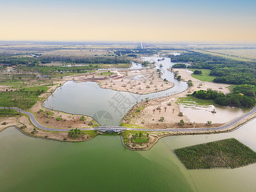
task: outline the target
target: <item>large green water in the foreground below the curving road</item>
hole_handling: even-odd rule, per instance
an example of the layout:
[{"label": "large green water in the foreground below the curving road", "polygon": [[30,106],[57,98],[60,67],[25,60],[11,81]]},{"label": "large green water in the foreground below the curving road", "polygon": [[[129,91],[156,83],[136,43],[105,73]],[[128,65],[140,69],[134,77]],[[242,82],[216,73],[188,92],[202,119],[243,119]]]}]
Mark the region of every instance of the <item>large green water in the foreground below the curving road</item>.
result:
[{"label": "large green water in the foreground below the curving road", "polygon": [[124,148],[111,134],[62,143],[10,127],[0,133],[0,191],[255,191],[256,164],[186,170],[172,152],[225,138],[256,150],[255,127],[253,120],[224,134],[166,137],[144,152]]}]

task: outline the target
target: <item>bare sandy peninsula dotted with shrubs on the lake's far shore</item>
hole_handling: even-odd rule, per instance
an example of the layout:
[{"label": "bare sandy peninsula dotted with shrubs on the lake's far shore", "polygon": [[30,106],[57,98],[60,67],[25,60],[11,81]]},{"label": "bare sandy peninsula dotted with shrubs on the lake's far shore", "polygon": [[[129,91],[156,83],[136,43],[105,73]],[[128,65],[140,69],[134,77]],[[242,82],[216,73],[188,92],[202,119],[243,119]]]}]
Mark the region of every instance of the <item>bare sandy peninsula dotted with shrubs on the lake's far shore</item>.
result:
[{"label": "bare sandy peninsula dotted with shrubs on the lake's far shore", "polygon": [[100,73],[102,72],[103,71],[97,71],[64,79],[77,82],[95,81],[99,83],[101,88],[138,94],[161,92],[173,87],[173,83],[164,81],[159,77],[158,72],[152,68],[140,70],[111,70],[113,74],[110,76],[101,76]]}]

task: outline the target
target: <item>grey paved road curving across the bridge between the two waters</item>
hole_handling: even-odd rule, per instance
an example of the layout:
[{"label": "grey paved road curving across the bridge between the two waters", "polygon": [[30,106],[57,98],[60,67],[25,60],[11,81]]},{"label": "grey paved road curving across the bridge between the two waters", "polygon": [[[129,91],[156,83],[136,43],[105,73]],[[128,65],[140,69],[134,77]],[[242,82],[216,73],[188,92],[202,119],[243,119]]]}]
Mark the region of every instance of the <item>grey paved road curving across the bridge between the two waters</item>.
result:
[{"label": "grey paved road curving across the bridge between the two waters", "polygon": [[[2,107],[0,107],[0,109],[4,109]],[[24,111],[22,109],[19,108],[11,108],[14,109],[20,113],[24,113],[26,115],[29,116],[32,124],[35,125],[35,127],[37,127],[38,129],[42,129],[45,131],[69,131],[68,129],[54,129],[54,128],[49,128],[49,127],[44,127],[41,124],[38,123],[38,121],[35,118],[35,115],[33,113],[29,113],[28,111]],[[237,124],[237,122],[239,122],[240,120],[243,120],[243,118],[246,118],[247,116],[252,115],[253,113],[256,113],[256,106],[252,109],[252,111],[245,113],[244,115],[239,116],[239,118],[236,118],[234,120],[232,120],[231,122],[229,122],[228,124],[225,125],[221,125],[220,127],[205,127],[205,128],[187,128],[187,129],[142,129],[142,128],[126,128],[126,127],[109,127],[109,130],[113,130],[113,131],[119,131],[120,129],[122,130],[132,130],[132,131],[164,131],[164,132],[172,132],[172,131],[186,131],[186,132],[195,132],[195,131],[211,131],[211,130],[216,130],[216,131],[220,131],[223,129],[228,129],[228,127],[231,127],[234,124]],[[88,130],[95,130],[95,129],[106,129],[108,127],[94,127],[94,128],[82,128],[81,131],[88,131]]]}]

